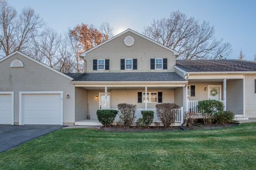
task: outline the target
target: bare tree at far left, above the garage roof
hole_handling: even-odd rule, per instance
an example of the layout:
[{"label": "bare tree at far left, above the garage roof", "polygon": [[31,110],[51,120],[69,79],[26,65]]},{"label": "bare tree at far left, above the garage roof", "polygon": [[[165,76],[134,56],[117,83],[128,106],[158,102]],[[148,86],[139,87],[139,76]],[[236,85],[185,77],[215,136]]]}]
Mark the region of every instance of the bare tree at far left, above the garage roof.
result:
[{"label": "bare tree at far left, above the garage roof", "polygon": [[0,57],[15,50],[25,52],[37,35],[37,30],[43,25],[43,21],[32,8],[23,8],[18,15],[15,8],[5,0],[0,0]]}]

